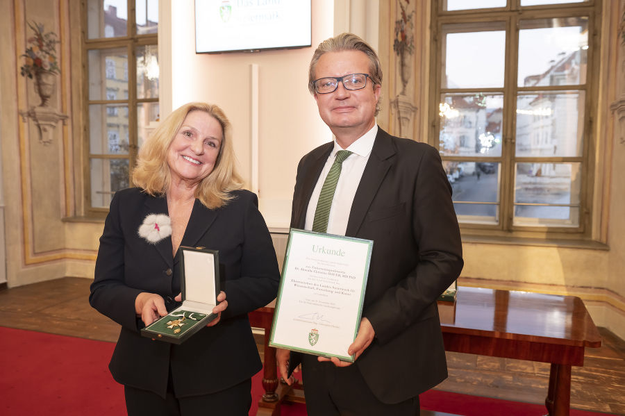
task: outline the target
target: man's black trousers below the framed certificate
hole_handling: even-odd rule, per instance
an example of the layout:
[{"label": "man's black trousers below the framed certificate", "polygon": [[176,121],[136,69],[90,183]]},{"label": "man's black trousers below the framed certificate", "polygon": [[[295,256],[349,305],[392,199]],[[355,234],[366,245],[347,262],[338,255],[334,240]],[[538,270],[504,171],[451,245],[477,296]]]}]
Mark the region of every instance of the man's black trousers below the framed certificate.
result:
[{"label": "man's black trousers below the framed certificate", "polygon": [[301,376],[308,416],[419,416],[421,412],[419,396],[394,404],[379,401],[356,364],[335,367],[303,354]]}]

